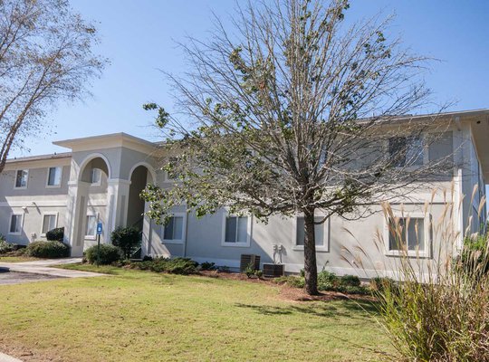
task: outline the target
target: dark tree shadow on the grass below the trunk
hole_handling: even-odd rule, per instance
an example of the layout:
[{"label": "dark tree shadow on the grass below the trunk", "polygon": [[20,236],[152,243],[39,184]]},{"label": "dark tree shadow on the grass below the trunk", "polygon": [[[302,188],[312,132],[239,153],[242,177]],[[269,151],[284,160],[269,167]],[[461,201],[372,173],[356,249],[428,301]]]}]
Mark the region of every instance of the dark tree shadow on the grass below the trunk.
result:
[{"label": "dark tree shadow on the grass below the trunk", "polygon": [[253,305],[244,303],[235,303],[237,308],[247,308],[254,310],[256,313],[264,315],[289,315],[294,313],[309,314],[322,318],[343,318],[364,319],[377,316],[379,310],[369,301],[345,301],[341,303],[340,308],[336,305],[327,303],[314,303],[312,305],[289,305],[284,307]]}]

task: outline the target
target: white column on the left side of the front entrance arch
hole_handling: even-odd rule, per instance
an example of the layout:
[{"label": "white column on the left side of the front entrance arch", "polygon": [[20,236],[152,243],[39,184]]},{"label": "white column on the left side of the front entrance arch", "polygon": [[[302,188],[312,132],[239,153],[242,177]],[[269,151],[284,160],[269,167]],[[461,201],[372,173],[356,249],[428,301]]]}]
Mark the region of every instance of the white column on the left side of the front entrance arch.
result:
[{"label": "white column on the left side of the front entrance arch", "polygon": [[64,243],[72,248],[72,256],[82,256],[85,216],[90,184],[82,181],[68,183],[68,203],[64,215]]}]

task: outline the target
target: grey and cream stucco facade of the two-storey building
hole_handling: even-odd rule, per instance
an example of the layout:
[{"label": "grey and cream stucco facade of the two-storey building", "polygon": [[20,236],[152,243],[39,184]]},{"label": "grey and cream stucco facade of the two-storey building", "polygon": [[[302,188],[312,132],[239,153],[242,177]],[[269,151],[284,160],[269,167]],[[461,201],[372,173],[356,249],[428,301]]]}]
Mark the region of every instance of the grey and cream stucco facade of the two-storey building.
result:
[{"label": "grey and cream stucco facade of the two-storey building", "polygon": [[[441,121],[446,122],[444,135],[424,150],[424,158],[429,161],[453,154],[454,169],[446,170],[416,195],[392,203],[395,212],[404,210],[420,220],[419,215],[428,214],[429,220],[423,219],[427,232],[423,257],[427,261],[439,257],[441,243],[439,235],[430,230],[430,220],[444,214],[447,203],[454,206],[452,226],[460,235],[469,226],[470,215],[470,232],[485,224],[485,210],[480,218],[474,215],[489,177],[489,111],[447,113]],[[95,243],[94,222],[103,224],[102,243],[110,243],[110,232],[117,226],[134,224],[143,232],[143,254],[187,256],[231,268],[239,266],[241,254],[258,254],[262,262],[283,262],[285,271],[302,269],[300,215],[273,216],[263,224],[252,216],[231,220],[225,209],[197,219],[180,206],[174,210],[171,227],[157,225],[143,216],[147,205],[139,199],[147,183],[170,187],[175,182],[158,169],[157,144],[123,133],[54,144],[71,152],[11,159],[0,175],[0,233],[7,241],[43,240],[45,224],[51,223],[64,226],[65,242],[71,245],[72,255],[80,256]],[[475,185],[479,188],[471,197]],[[433,194],[435,188],[438,191]],[[332,217],[318,226],[320,270],[361,276],[379,270],[393,272],[395,252],[388,243],[379,247],[379,238],[376,240],[376,235],[385,233],[386,218],[380,205],[373,207],[379,213],[368,218],[349,222]],[[353,252],[358,245],[366,255]]]}]

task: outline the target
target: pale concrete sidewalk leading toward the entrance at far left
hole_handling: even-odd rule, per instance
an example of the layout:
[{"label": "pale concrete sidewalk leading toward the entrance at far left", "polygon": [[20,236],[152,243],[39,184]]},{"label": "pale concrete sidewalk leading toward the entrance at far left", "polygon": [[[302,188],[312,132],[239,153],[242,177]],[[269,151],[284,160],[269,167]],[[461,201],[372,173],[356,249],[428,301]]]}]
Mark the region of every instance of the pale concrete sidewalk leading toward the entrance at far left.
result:
[{"label": "pale concrete sidewalk leading toward the entrance at far left", "polygon": [[6,268],[10,271],[30,272],[33,274],[50,275],[60,278],[90,278],[107,276],[91,271],[72,271],[68,269],[53,268],[56,265],[72,264],[82,262],[82,258],[63,258],[63,259],[46,259],[34,262],[0,262],[0,268]]}]

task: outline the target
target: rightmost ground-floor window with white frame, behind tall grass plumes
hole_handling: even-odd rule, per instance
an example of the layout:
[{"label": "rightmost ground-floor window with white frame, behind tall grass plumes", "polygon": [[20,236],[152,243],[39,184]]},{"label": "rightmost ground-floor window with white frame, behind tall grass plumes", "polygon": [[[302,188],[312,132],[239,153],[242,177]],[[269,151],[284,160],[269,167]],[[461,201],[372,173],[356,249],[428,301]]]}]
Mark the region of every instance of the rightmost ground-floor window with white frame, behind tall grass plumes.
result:
[{"label": "rightmost ground-floor window with white frame, behind tall grass plumes", "polygon": [[429,215],[414,214],[390,219],[385,235],[388,254],[429,256]]}]

